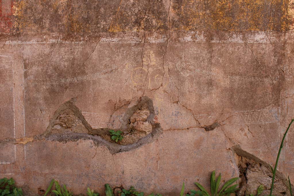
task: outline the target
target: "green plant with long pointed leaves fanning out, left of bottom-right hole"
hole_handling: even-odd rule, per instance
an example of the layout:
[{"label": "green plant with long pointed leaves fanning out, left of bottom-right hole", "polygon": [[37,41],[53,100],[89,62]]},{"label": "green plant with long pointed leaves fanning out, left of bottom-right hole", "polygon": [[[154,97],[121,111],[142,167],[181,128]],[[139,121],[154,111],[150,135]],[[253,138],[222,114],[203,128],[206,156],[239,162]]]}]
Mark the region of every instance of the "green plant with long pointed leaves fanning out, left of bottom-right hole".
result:
[{"label": "green plant with long pointed leaves fanning out, left of bottom-right hole", "polygon": [[[211,174],[211,180],[210,180],[211,195],[209,195],[209,193],[205,190],[205,188],[198,182],[195,182],[195,184],[198,186],[198,188],[201,191],[193,191],[193,192],[191,191],[191,192],[193,193],[193,195],[197,195],[197,196],[223,196],[223,195],[227,196],[227,195],[230,195],[231,193],[236,194],[235,191],[238,190],[237,188],[238,184],[235,184],[232,186],[230,185],[236,182],[238,179],[239,179],[238,177],[235,177],[228,180],[227,182],[225,182],[225,184],[220,189],[220,191],[218,191],[220,188],[221,174],[216,179],[216,172],[213,171]],[[193,195],[191,194],[191,196]]]}]

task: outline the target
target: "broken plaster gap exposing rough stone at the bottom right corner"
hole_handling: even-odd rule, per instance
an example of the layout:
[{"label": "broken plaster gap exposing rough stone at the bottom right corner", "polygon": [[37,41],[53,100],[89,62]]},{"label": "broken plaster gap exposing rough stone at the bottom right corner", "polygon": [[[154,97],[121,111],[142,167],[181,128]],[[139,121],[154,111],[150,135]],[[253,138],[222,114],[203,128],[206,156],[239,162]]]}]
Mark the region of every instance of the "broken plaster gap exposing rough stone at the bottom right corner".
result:
[{"label": "broken plaster gap exposing rough stone at the bottom right corner", "polygon": [[[238,195],[256,195],[257,188],[260,185],[263,185],[265,188],[263,195],[269,195],[272,182],[270,165],[242,150],[240,147],[234,147],[233,150],[238,155],[237,162],[240,171],[240,189]],[[287,187],[287,179],[279,171],[275,175],[273,195],[290,195]]]}]

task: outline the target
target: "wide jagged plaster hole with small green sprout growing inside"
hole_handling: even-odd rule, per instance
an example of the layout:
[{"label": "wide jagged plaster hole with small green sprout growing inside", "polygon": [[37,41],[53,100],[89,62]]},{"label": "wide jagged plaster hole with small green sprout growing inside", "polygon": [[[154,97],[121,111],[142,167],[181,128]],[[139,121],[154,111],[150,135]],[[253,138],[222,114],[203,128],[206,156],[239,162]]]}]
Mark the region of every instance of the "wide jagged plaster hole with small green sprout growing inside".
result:
[{"label": "wide jagged plaster hole with small green sprout growing inside", "polygon": [[[96,145],[105,145],[111,153],[117,153],[152,142],[162,133],[160,123],[155,120],[153,101],[146,96],[118,108],[106,128],[92,128],[74,103],[75,99],[71,99],[56,110],[41,138],[60,142],[93,140]],[[123,140],[114,143],[111,129],[121,130]]]}]

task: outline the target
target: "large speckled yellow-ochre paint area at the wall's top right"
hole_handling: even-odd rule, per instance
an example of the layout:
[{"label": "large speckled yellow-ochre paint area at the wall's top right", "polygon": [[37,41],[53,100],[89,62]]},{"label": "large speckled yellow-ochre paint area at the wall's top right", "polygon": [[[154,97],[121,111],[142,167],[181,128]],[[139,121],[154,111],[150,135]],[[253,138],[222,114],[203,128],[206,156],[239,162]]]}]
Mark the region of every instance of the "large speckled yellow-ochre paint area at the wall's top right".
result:
[{"label": "large speckled yellow-ochre paint area at the wall's top right", "polygon": [[186,31],[285,31],[293,21],[293,8],[292,14],[288,14],[286,0],[183,0],[173,6],[179,16],[176,29]]}]

